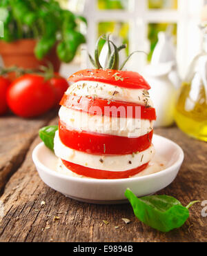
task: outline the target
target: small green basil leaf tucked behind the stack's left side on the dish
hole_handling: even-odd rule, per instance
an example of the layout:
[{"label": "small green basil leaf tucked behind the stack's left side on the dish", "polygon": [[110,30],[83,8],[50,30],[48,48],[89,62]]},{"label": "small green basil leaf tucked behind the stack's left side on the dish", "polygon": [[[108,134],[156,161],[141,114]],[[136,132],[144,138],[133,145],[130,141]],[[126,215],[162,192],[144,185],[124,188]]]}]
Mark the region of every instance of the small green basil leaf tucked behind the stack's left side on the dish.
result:
[{"label": "small green basil leaf tucked behind the stack's left side on the dish", "polygon": [[58,130],[58,126],[46,126],[39,130],[39,137],[46,145],[54,152],[54,138],[55,132]]}]

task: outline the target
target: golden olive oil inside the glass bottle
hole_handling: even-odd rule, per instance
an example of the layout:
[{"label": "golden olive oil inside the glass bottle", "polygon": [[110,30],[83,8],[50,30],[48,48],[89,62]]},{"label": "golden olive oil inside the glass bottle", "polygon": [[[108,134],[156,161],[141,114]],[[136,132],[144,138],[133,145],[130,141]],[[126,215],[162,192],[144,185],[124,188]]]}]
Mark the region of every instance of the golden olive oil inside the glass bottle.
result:
[{"label": "golden olive oil inside the glass bottle", "polygon": [[207,141],[206,99],[206,90],[201,81],[184,82],[175,108],[177,126],[191,137],[203,141]]}]

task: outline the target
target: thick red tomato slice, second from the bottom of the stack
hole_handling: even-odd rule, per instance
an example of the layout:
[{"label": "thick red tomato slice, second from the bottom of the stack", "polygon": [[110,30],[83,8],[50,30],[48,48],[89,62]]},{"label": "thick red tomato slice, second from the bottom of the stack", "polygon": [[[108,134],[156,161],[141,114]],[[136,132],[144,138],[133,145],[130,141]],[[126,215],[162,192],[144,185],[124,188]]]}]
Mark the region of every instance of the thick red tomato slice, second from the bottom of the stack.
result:
[{"label": "thick red tomato slice, second from the bottom of the stack", "polygon": [[93,155],[129,155],[151,146],[153,130],[138,138],[103,135],[95,132],[67,130],[59,121],[59,137],[68,148]]}]

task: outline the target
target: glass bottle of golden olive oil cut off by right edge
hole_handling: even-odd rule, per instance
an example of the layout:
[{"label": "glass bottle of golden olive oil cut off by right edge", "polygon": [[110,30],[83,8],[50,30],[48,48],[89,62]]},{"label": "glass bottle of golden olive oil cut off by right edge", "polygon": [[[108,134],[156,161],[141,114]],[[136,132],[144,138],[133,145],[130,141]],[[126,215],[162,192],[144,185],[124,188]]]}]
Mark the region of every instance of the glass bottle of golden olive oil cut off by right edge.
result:
[{"label": "glass bottle of golden olive oil cut off by right edge", "polygon": [[191,137],[207,141],[207,28],[204,49],[195,57],[181,85],[175,121]]}]

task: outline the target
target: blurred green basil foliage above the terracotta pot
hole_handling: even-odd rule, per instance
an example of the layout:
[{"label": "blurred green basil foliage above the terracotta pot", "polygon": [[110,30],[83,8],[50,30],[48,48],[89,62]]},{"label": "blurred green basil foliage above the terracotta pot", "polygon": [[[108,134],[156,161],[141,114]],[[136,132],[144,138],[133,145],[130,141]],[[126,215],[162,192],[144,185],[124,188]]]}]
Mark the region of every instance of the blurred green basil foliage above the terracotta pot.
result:
[{"label": "blurred green basil foliage above the terracotta pot", "polygon": [[55,0],[0,0],[0,21],[4,24],[0,41],[35,39],[37,59],[57,45],[59,59],[68,63],[86,42],[79,32],[79,21],[87,23],[86,19],[61,8]]}]

